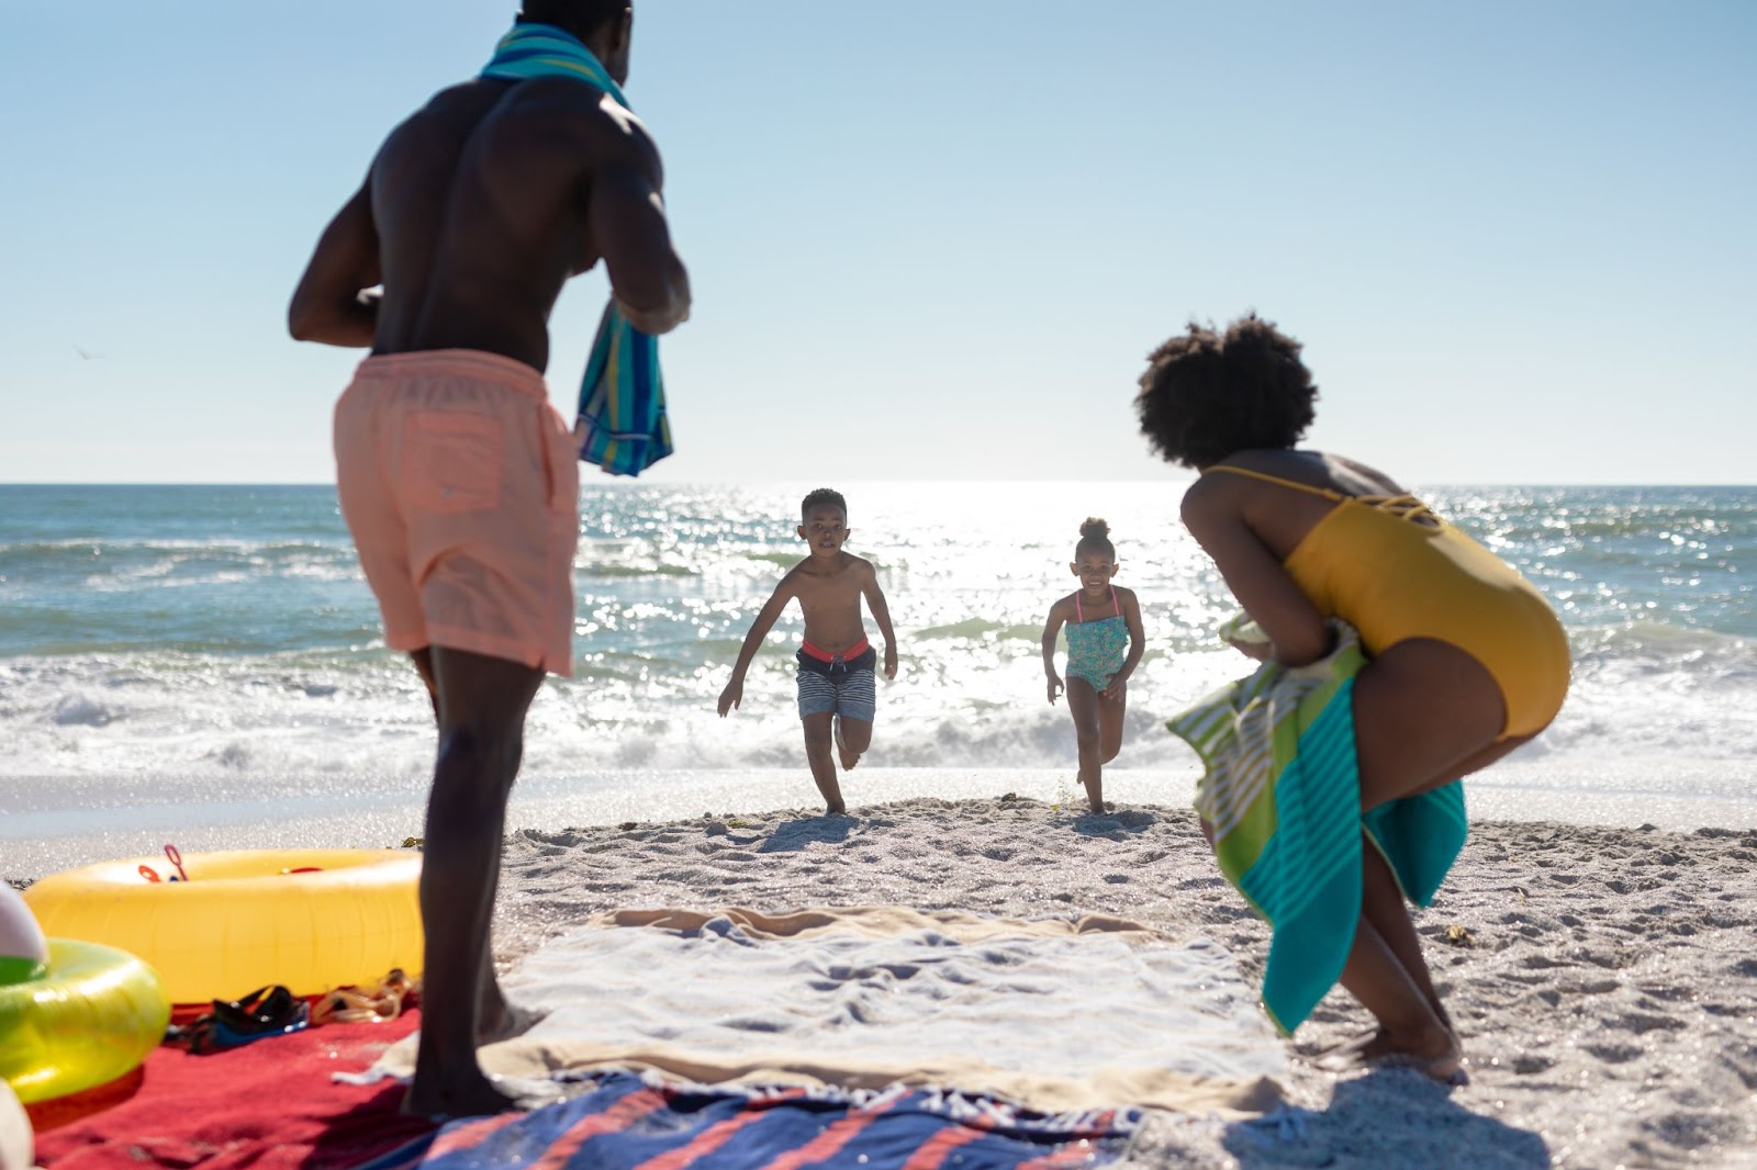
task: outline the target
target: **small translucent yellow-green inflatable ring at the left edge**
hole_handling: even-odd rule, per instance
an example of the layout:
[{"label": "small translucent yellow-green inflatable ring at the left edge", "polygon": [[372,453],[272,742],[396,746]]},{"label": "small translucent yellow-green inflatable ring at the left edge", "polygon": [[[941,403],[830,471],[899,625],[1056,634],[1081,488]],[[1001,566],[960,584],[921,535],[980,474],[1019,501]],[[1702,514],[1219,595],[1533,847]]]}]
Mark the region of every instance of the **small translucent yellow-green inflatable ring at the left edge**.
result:
[{"label": "small translucent yellow-green inflatable ring at the left edge", "polygon": [[146,1059],[167,1022],[170,1000],[146,963],[49,938],[44,975],[0,986],[0,1079],[26,1105],[107,1084]]}]

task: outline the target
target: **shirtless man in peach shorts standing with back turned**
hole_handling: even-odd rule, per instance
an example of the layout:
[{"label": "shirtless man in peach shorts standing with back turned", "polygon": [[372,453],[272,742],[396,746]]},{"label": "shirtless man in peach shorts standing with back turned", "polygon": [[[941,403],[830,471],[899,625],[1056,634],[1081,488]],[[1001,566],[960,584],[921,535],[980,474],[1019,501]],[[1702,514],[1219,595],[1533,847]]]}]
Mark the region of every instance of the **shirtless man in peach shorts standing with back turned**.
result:
[{"label": "shirtless man in peach shorts standing with back turned", "polygon": [[573,72],[478,77],[392,130],[288,311],[300,341],[372,350],[336,406],[337,490],[439,722],[404,1103],[422,1116],[517,1107],[474,1051],[518,1028],[488,947],[506,801],[545,669],[571,671],[578,460],[543,383],[550,309],[603,258],[634,329],[689,316],[659,155],[617,100],[633,19],[629,0],[527,0],[513,35]]}]

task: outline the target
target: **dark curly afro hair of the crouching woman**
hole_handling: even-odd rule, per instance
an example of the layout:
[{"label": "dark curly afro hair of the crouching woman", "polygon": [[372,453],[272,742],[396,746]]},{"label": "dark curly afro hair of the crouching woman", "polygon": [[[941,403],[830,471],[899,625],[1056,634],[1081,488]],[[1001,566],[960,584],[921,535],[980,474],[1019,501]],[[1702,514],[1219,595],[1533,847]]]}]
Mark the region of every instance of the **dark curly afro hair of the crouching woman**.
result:
[{"label": "dark curly afro hair of the crouching woman", "polygon": [[1300,343],[1247,313],[1225,332],[1191,321],[1149,353],[1135,413],[1161,459],[1209,467],[1251,448],[1291,448],[1316,401]]}]

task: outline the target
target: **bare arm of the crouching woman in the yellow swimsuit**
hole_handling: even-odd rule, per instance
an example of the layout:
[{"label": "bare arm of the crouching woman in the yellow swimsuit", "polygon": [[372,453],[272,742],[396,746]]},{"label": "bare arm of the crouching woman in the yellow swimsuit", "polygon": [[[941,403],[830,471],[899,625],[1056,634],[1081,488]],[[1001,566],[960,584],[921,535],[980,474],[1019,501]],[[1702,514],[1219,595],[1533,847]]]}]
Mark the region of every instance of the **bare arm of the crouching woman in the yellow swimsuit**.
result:
[{"label": "bare arm of the crouching woman in the yellow swimsuit", "polygon": [[1207,476],[1184,494],[1184,527],[1214,559],[1232,596],[1269,634],[1269,659],[1305,666],[1330,652],[1330,629],[1269,545],[1216,488],[1232,476]]}]

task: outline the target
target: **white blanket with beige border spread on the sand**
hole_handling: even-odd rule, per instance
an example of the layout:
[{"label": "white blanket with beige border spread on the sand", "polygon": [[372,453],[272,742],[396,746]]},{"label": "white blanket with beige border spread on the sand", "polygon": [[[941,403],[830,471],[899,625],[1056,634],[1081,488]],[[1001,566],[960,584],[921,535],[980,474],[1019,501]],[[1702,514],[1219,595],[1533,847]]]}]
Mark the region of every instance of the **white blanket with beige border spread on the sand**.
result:
[{"label": "white blanket with beige border spread on the sand", "polygon": [[[654,1070],[701,1084],[936,1084],[1059,1112],[1254,1114],[1283,1045],[1232,956],[1123,919],[903,906],[617,910],[532,954],[508,996],[546,1015],[490,1073]],[[376,1072],[408,1075],[409,1036]]]}]

